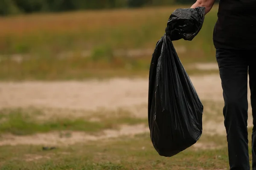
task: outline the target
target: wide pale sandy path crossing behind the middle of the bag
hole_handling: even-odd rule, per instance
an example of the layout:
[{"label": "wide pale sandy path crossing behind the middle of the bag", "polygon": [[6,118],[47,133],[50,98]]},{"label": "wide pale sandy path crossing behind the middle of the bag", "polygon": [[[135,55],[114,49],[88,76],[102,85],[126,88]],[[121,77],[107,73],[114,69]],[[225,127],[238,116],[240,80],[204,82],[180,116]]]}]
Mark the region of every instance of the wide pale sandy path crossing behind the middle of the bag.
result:
[{"label": "wide pale sandy path crossing behind the middle of the bag", "polygon": [[[193,76],[202,100],[222,101],[218,75]],[[0,82],[0,108],[47,107],[95,110],[147,104],[148,79],[84,82]]]}]

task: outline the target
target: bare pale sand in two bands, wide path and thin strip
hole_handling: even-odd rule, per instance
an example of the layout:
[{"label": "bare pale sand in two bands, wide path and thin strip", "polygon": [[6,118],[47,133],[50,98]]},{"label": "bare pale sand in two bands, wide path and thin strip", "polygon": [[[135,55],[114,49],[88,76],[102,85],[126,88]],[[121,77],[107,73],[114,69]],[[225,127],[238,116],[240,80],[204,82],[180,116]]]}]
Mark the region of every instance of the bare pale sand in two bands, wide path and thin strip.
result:
[{"label": "bare pale sand in two bands, wide path and thin strip", "polygon": [[[222,102],[222,88],[219,75],[190,77],[200,98],[204,101]],[[248,91],[248,96],[250,91]],[[97,111],[102,108],[116,110],[125,108],[134,116],[147,117],[148,79],[109,79],[84,82],[0,82],[1,108],[52,108]],[[222,107],[219,106],[219,107]],[[205,105],[206,110],[211,108]],[[50,113],[50,112],[49,112]],[[225,135],[222,113],[217,113],[220,121],[204,120],[204,133]],[[57,115],[61,116],[61,115]],[[251,126],[249,116],[248,124]],[[101,136],[73,132],[61,138],[59,133],[37,134],[33,136],[4,135],[0,145],[5,144],[73,144],[87,140],[108,139],[121,135],[135,135],[148,132],[144,125],[123,126],[120,130],[105,130]],[[201,147],[201,144],[198,145]]]}]

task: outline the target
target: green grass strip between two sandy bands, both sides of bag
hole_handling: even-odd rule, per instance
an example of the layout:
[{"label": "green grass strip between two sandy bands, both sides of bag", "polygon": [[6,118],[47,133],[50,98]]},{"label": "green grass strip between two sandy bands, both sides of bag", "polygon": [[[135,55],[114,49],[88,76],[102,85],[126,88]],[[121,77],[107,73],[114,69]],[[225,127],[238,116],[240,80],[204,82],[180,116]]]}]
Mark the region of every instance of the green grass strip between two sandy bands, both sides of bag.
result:
[{"label": "green grass strip between two sandy bands, both sides of bag", "polygon": [[[203,122],[223,121],[222,102],[202,101]],[[140,107],[147,107],[146,105]],[[143,115],[147,113],[142,113]],[[148,118],[138,118],[125,109],[116,111],[73,111],[61,109],[9,108],[0,110],[0,133],[28,135],[51,131],[84,131],[98,133],[119,129],[120,125],[148,125]],[[214,139],[212,139],[214,140]]]}]

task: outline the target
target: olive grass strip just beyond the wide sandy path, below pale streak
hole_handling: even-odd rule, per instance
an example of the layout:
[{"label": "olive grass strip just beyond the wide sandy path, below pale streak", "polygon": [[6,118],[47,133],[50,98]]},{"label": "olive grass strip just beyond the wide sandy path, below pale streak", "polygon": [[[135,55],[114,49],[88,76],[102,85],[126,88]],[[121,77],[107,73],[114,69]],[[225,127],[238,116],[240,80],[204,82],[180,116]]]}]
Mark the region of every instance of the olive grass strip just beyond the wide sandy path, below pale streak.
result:
[{"label": "olive grass strip just beyond the wide sandy path, below pale streak", "polygon": [[[186,68],[187,62],[184,62]],[[88,61],[82,57],[70,59],[40,58],[17,63],[10,59],[0,62],[0,80],[83,80],[110,77],[148,78],[150,59],[116,59],[112,62]],[[189,75],[212,74],[218,71],[187,69]]]}]

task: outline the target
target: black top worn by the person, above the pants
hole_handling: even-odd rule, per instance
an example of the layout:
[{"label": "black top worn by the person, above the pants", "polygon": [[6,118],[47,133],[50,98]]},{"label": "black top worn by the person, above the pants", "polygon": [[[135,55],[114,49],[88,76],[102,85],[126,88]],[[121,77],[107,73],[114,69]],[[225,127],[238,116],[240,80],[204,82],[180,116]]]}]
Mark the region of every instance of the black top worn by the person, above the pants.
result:
[{"label": "black top worn by the person, above the pants", "polygon": [[256,49],[256,0],[220,0],[215,48]]}]

